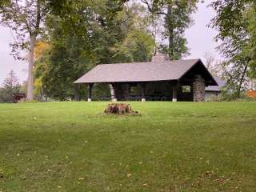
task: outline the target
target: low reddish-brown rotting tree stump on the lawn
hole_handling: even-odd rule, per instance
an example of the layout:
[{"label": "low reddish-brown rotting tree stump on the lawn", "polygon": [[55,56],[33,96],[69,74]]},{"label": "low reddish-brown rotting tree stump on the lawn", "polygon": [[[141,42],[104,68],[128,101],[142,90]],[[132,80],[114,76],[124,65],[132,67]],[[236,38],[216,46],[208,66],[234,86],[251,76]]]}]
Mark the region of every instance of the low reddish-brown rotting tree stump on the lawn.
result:
[{"label": "low reddish-brown rotting tree stump on the lawn", "polygon": [[138,114],[138,111],[133,111],[129,104],[125,103],[110,103],[104,111],[106,114]]}]

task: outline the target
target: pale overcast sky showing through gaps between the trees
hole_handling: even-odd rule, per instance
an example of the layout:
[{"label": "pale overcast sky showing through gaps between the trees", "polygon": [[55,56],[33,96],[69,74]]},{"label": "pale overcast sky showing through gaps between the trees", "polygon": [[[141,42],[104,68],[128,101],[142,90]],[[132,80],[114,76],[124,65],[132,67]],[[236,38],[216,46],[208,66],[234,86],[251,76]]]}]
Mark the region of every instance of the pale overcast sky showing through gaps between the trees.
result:
[{"label": "pale overcast sky showing through gaps between the trees", "polygon": [[[207,52],[215,58],[221,59],[215,50],[215,47],[218,46],[214,42],[214,36],[217,32],[206,27],[210,19],[214,17],[214,10],[207,8],[210,1],[206,0],[205,3],[198,5],[198,11],[193,14],[194,26],[186,30],[187,46],[190,48],[190,56],[187,58],[202,58],[204,60],[204,55]],[[10,55],[10,42],[13,42],[10,30],[0,26],[0,85],[10,70],[14,70],[20,82],[26,80],[27,76],[27,63],[15,61]]]}]

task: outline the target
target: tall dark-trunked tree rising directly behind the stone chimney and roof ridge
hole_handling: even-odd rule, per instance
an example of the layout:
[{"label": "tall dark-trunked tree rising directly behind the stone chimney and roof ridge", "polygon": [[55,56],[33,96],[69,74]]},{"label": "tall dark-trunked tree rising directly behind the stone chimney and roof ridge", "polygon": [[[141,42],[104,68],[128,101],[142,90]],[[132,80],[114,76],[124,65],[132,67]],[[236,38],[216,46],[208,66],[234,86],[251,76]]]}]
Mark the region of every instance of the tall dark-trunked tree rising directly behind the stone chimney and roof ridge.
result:
[{"label": "tall dark-trunked tree rising directly behind the stone chimney and roof ridge", "polygon": [[164,18],[162,38],[168,43],[162,43],[160,48],[168,54],[171,60],[182,58],[188,54],[184,33],[191,25],[191,14],[196,10],[198,0],[141,0],[152,14]]}]

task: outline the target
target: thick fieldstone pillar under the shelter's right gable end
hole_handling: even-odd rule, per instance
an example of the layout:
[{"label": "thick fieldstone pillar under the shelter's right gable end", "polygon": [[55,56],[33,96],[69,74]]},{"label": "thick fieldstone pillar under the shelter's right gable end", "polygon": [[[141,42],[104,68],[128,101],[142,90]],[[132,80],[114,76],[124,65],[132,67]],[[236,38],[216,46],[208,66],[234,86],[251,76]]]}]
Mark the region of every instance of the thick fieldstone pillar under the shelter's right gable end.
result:
[{"label": "thick fieldstone pillar under the shelter's right gable end", "polygon": [[196,75],[193,82],[193,101],[204,102],[205,101],[205,80],[201,75]]}]

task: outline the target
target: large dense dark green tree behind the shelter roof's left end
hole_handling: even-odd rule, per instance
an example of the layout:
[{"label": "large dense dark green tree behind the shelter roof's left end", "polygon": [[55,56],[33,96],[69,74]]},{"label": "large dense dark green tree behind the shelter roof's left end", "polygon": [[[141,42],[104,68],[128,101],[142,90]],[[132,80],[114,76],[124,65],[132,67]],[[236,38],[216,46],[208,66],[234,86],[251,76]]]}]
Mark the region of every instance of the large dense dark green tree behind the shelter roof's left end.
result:
[{"label": "large dense dark green tree behind the shelter roof's left end", "polygon": [[[42,87],[49,96],[78,98],[74,93],[81,94],[85,89],[74,86],[74,80],[98,63],[115,62],[114,45],[124,37],[117,15],[120,6],[110,0],[81,1],[69,6],[62,17],[48,18],[50,51],[40,61],[36,74],[38,79],[42,75]],[[42,69],[46,71],[42,73]]]}]

